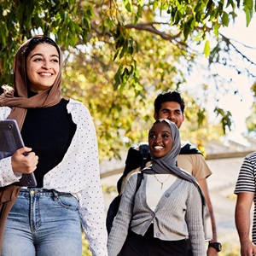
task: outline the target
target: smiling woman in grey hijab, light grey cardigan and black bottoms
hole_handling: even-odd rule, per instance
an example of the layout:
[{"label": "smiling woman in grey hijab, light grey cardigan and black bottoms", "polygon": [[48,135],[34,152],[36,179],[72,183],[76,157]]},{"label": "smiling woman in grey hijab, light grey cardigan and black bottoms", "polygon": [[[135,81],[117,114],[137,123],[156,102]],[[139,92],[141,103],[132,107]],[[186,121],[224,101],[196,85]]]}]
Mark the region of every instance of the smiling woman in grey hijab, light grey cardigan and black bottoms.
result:
[{"label": "smiling woman in grey hijab, light grey cardigan and black bottoms", "polygon": [[[193,255],[206,255],[206,201],[188,172],[176,165],[181,143],[177,126],[159,119],[148,133],[152,165],[125,185],[119,212],[108,237],[109,256],[185,256],[187,239]],[[136,192],[137,191],[137,192]]]}]

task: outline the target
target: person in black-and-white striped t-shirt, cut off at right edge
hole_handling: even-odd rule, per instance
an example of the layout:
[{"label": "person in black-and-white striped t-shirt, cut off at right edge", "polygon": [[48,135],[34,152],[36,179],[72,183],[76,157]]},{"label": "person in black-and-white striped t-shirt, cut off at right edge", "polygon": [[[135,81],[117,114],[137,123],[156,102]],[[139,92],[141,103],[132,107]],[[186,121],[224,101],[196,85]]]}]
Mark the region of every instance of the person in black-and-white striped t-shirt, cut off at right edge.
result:
[{"label": "person in black-and-white striped t-shirt, cut off at right edge", "polygon": [[[256,152],[248,154],[241,165],[236,182],[236,230],[241,244],[241,256],[256,255]],[[252,238],[250,236],[251,208],[254,204]]]}]

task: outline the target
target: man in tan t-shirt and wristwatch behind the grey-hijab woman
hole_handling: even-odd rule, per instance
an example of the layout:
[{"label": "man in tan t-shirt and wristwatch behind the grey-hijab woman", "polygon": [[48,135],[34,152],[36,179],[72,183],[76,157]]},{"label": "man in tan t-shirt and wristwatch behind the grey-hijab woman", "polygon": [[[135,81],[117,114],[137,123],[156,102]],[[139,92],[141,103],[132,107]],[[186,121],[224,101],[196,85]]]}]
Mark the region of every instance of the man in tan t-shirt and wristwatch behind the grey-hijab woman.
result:
[{"label": "man in tan t-shirt and wristwatch behind the grey-hijab woman", "polygon": [[[162,91],[154,100],[154,119],[169,119],[177,125],[178,129],[180,129],[185,119],[184,110],[185,103],[183,97],[177,90]],[[133,157],[134,154],[138,154],[137,158],[141,158],[139,151],[133,150],[132,152]],[[147,161],[150,161],[150,156]],[[125,188],[125,181],[129,176],[128,173],[134,172],[133,169],[135,168],[137,168],[137,170],[140,168],[141,164],[134,166],[133,162],[134,160],[129,159],[128,154],[125,160],[126,166],[124,174],[119,178],[117,184],[119,194],[121,194]],[[148,166],[148,164],[149,162],[146,163],[146,166]],[[218,256],[218,252],[221,251],[222,246],[217,240],[216,223],[207,186],[207,177],[212,175],[209,166],[207,166],[207,161],[198,148],[195,148],[195,146],[188,142],[182,141],[181,151],[177,156],[177,166],[195,177],[205,195],[212,222],[212,240],[209,241],[208,244],[207,256]]]}]

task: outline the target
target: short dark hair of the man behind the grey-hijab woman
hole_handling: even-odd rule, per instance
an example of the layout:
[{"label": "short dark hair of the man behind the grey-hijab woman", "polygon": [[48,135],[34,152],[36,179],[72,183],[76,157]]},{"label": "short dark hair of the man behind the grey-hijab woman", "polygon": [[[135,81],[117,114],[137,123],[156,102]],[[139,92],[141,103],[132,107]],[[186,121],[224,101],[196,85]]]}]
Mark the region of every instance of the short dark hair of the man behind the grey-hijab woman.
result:
[{"label": "short dark hair of the man behind the grey-hijab woman", "polygon": [[154,113],[159,113],[162,103],[177,102],[180,105],[182,113],[185,110],[185,102],[177,90],[162,91],[154,100]]}]

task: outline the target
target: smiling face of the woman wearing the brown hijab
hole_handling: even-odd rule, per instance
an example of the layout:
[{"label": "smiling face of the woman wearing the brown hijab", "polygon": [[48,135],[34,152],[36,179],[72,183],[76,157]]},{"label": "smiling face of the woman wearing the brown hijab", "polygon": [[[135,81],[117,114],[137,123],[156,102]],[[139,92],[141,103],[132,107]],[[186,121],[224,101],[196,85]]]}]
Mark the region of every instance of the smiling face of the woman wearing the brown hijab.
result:
[{"label": "smiling face of the woman wearing the brown hijab", "polygon": [[26,58],[26,75],[32,91],[49,89],[59,72],[60,56],[53,45],[38,44]]}]

